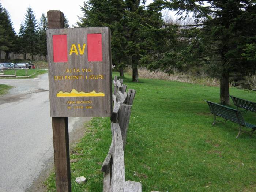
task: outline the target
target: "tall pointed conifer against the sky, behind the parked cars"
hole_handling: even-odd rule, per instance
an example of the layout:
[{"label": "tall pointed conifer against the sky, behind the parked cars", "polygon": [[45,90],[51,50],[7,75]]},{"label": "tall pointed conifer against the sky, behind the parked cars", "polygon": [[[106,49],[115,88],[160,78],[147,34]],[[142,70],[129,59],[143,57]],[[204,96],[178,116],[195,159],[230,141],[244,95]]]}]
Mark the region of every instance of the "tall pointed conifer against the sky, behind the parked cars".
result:
[{"label": "tall pointed conifer against the sky, behind the parked cars", "polygon": [[35,19],[34,11],[30,6],[27,8],[27,13],[25,15],[23,38],[26,43],[26,50],[28,53],[32,54],[33,60],[34,55],[37,54],[38,50],[38,31],[37,20]]}]

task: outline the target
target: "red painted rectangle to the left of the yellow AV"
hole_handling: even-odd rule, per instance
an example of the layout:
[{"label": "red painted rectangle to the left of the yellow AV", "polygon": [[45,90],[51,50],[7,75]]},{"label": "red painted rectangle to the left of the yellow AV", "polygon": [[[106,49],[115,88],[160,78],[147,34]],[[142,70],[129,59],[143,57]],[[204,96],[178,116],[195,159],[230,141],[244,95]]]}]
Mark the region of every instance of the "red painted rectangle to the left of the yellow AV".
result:
[{"label": "red painted rectangle to the left of the yellow AV", "polygon": [[68,62],[67,35],[52,35],[53,62]]}]

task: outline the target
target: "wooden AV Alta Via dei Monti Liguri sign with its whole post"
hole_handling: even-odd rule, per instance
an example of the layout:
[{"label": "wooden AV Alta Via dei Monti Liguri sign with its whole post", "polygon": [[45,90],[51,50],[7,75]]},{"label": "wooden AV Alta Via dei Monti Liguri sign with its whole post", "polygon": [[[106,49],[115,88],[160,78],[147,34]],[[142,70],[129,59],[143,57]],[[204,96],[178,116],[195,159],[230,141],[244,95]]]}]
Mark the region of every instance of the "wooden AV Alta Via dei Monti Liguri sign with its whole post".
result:
[{"label": "wooden AV Alta Via dei Monti Liguri sign with its whole post", "polygon": [[62,29],[64,16],[48,11],[50,116],[57,191],[71,191],[67,117],[110,117],[111,44],[108,27]]}]

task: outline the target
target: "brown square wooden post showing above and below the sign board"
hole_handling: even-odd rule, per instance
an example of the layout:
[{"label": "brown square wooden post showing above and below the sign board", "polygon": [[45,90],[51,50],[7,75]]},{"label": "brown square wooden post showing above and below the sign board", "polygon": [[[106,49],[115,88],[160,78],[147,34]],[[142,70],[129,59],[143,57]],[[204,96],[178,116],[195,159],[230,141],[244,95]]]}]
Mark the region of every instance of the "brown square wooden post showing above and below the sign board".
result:
[{"label": "brown square wooden post showing above and below the sign board", "polygon": [[[64,28],[64,14],[47,12],[48,29]],[[54,165],[57,192],[71,192],[68,117],[52,117]]]}]

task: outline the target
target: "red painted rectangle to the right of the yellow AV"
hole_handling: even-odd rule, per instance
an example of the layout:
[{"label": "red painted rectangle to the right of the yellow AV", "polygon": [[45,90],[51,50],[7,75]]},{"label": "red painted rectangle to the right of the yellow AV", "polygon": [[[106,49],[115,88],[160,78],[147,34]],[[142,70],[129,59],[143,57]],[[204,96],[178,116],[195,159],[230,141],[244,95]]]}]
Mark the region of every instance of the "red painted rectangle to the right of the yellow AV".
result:
[{"label": "red painted rectangle to the right of the yellow AV", "polygon": [[88,61],[102,61],[101,33],[87,34]]}]

